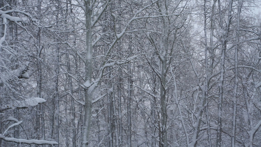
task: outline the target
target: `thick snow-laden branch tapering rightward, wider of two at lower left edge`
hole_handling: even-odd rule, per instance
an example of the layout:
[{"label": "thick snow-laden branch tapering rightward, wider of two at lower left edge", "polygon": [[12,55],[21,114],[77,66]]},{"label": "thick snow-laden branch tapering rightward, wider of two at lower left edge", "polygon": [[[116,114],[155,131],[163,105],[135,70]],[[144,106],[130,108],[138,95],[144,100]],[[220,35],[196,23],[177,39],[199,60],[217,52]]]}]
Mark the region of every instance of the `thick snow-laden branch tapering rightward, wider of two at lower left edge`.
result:
[{"label": "thick snow-laden branch tapering rightward, wider of two at lower left edge", "polygon": [[39,103],[44,103],[44,98],[28,98],[25,100],[17,100],[8,105],[0,106],[0,111],[15,108],[27,108],[28,106],[36,106]]}]

